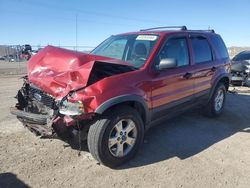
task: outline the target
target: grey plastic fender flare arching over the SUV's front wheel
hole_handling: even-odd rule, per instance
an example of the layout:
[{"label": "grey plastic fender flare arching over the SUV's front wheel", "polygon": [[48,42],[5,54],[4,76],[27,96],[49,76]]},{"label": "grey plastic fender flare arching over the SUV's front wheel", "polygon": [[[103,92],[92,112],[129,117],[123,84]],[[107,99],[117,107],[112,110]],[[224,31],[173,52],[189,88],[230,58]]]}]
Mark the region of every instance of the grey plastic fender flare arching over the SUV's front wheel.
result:
[{"label": "grey plastic fender flare arching over the SUV's front wheel", "polygon": [[108,108],[123,102],[138,102],[143,107],[145,112],[145,123],[147,124],[150,121],[150,112],[146,100],[143,97],[134,94],[113,97],[98,106],[95,113],[103,114]]}]

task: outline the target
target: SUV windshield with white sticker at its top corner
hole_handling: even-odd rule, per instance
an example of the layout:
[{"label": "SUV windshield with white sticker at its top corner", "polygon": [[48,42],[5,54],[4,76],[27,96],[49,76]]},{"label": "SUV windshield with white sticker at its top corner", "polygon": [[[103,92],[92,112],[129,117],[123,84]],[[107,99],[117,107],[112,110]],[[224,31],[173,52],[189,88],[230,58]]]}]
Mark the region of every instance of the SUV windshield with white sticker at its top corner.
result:
[{"label": "SUV windshield with white sticker at its top corner", "polygon": [[97,46],[91,54],[120,59],[136,68],[141,68],[151,54],[158,38],[158,35],[149,34],[111,36]]}]

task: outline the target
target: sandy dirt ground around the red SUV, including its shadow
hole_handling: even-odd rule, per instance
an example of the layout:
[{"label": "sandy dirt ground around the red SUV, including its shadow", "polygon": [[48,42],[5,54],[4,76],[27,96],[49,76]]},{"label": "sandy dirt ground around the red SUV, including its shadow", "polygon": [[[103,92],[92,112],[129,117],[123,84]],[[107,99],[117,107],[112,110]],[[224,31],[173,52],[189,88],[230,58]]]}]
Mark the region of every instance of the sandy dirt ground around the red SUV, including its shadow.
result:
[{"label": "sandy dirt ground around the red SUV, including its shadow", "polygon": [[9,114],[20,76],[0,76],[0,187],[250,187],[250,91],[228,94],[217,119],[194,110],[148,131],[134,160],[112,170],[86,147],[39,139]]}]

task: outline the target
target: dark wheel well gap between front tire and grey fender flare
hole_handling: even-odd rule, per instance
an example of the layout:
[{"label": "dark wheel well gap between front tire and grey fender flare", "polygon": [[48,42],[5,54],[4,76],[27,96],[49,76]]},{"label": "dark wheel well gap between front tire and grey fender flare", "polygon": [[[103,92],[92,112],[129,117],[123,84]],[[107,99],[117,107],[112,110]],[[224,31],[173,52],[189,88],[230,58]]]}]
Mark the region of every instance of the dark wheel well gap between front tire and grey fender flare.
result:
[{"label": "dark wheel well gap between front tire and grey fender flare", "polygon": [[121,102],[121,103],[115,104],[115,105],[110,106],[109,108],[107,108],[104,111],[104,113],[107,112],[110,109],[116,108],[117,106],[121,106],[121,105],[127,105],[127,106],[130,106],[130,107],[134,108],[140,114],[144,125],[146,125],[146,122],[147,122],[146,111],[145,111],[143,105],[140,102],[137,102],[137,101],[126,101],[126,102]]}]

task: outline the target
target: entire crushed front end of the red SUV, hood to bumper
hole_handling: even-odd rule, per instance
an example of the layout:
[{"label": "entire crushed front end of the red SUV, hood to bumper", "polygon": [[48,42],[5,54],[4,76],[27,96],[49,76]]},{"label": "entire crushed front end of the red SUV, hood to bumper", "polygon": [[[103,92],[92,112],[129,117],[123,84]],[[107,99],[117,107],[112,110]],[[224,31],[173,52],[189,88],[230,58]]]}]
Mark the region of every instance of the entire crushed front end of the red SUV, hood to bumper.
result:
[{"label": "entire crushed front end of the red SUV, hood to bumper", "polygon": [[[23,77],[23,86],[16,95],[18,103],[10,111],[43,138],[80,134],[84,140],[97,116],[95,107],[84,105],[96,100],[97,93],[88,97],[84,92],[79,97],[77,92],[104,78],[133,70],[114,59],[48,46],[29,61],[28,76]],[[77,100],[71,100],[74,96],[78,96]]]}]

